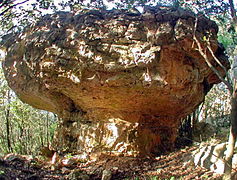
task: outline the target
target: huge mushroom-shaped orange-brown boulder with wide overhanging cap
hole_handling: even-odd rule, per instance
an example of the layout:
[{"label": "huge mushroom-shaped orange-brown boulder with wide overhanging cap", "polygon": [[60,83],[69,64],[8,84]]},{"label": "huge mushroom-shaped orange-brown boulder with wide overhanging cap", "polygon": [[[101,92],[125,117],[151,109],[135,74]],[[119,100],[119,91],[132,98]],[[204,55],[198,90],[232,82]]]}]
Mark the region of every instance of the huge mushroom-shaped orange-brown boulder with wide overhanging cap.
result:
[{"label": "huge mushroom-shaped orange-brown boulder with wide overhanging cap", "polygon": [[217,25],[199,16],[195,30],[195,18],[182,9],[158,7],[143,14],[90,10],[46,15],[3,41],[5,76],[22,101],[61,117],[59,149],[168,150],[180,119],[219,82],[193,33],[201,44],[209,38],[215,55],[228,65]]}]

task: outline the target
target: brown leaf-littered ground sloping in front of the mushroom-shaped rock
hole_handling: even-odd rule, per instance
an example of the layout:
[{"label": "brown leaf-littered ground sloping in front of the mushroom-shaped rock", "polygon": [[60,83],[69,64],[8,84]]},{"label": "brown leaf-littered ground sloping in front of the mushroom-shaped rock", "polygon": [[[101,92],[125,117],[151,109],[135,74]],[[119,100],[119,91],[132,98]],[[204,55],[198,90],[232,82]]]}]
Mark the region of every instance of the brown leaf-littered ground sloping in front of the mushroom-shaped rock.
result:
[{"label": "brown leaf-littered ground sloping in front of the mushroom-shaped rock", "polygon": [[[205,168],[194,166],[189,155],[198,148],[189,146],[156,158],[134,158],[101,155],[96,161],[52,163],[31,156],[7,155],[0,158],[0,180],[36,179],[107,179],[175,180],[175,179],[221,179]],[[106,171],[107,170],[107,171]],[[104,178],[106,180],[106,178]]]}]

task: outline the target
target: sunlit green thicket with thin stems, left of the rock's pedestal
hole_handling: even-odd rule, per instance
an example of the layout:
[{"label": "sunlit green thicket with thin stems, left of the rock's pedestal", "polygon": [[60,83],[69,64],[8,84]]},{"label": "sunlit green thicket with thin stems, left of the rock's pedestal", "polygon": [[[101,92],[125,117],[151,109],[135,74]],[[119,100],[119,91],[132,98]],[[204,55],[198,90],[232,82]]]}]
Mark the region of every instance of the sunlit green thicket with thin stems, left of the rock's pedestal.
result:
[{"label": "sunlit green thicket with thin stems, left of the rock's pedestal", "polygon": [[0,152],[38,154],[50,146],[57,116],[21,102],[9,89],[0,71]]}]

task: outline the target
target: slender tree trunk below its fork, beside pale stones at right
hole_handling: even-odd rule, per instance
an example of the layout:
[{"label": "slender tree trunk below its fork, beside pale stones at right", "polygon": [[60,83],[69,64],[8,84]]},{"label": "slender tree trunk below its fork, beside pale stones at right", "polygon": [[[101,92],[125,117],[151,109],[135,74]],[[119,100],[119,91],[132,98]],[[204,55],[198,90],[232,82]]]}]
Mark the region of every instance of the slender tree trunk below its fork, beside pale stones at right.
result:
[{"label": "slender tree trunk below its fork, beside pale stones at right", "polygon": [[231,169],[232,169],[232,157],[234,154],[235,142],[237,137],[237,90],[234,91],[232,99],[231,99],[231,127],[230,127],[230,135],[229,142],[227,146],[226,153],[226,162],[225,162],[225,176],[224,179],[231,179]]}]

